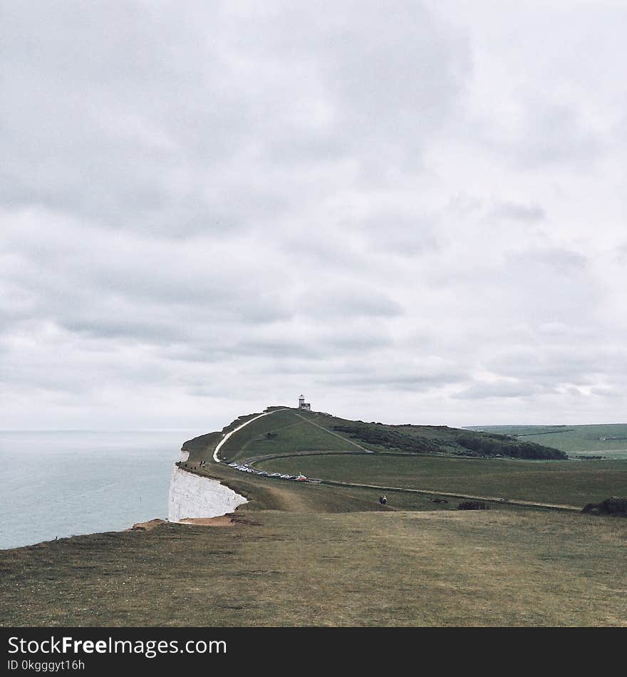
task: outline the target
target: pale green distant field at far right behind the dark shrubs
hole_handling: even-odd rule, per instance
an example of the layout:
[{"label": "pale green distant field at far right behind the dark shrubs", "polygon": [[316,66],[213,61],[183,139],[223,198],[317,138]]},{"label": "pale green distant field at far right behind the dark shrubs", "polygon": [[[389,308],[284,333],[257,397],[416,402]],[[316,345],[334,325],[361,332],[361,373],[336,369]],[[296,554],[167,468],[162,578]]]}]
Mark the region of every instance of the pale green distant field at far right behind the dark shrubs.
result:
[{"label": "pale green distant field at far right behind the dark shrubs", "polygon": [[472,426],[469,430],[481,430],[500,435],[517,435],[520,440],[529,440],[565,451],[569,455],[597,455],[605,452],[607,458],[627,459],[627,423],[600,425],[486,425]]}]

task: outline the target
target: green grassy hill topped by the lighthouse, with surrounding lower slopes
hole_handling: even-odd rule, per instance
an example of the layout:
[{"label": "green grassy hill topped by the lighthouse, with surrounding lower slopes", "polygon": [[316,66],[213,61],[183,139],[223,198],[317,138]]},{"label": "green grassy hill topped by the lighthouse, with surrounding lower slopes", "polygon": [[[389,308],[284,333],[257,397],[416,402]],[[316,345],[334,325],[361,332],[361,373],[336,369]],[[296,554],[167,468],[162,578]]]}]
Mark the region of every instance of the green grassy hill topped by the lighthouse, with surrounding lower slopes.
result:
[{"label": "green grassy hill topped by the lighthouse, with surrounding lower slopes", "polygon": [[[234,430],[242,420],[247,418],[234,421],[224,431]],[[478,441],[479,450],[469,448],[469,435]],[[627,491],[626,461],[566,460],[564,452],[535,445],[532,452],[541,457],[539,461],[507,458],[502,451],[515,453],[519,440],[446,426],[384,425],[284,409],[254,420],[219,450],[227,462],[248,462],[266,472],[302,472],[323,480],[323,485],[299,485],[216,465],[212,454],[221,439],[222,434],[212,433],[186,443],[191,451],[188,469],[224,480],[259,509],[378,510],[381,492],[389,494],[394,489],[423,492],[388,495],[388,505],[395,510],[457,507],[452,499],[448,504],[434,504],[438,492],[581,509]],[[509,440],[512,447],[503,440]],[[492,448],[492,444],[500,446]],[[486,453],[482,445],[492,453]],[[199,467],[203,459],[208,464]],[[333,482],[368,486],[338,487]]]}]

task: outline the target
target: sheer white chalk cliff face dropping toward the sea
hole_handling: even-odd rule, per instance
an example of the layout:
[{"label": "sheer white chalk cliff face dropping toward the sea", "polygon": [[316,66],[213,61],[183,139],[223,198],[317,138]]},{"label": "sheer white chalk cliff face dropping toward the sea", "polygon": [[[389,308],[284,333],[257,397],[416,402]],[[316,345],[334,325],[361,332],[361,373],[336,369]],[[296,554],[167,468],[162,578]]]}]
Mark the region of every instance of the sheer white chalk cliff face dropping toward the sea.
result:
[{"label": "sheer white chalk cliff face dropping toward the sea", "polygon": [[[187,452],[182,452],[183,455],[189,456]],[[179,522],[185,517],[219,517],[233,512],[238,505],[246,502],[243,496],[218,480],[194,475],[175,465],[170,481],[170,522]]]}]

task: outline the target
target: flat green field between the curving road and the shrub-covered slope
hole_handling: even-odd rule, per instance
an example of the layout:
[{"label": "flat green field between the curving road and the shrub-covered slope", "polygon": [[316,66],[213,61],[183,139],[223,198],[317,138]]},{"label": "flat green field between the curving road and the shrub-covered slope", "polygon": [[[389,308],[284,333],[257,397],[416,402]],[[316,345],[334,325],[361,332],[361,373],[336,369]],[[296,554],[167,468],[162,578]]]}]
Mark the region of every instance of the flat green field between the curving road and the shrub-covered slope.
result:
[{"label": "flat green field between the curving road and the shrub-covered slope", "polygon": [[[627,492],[627,461],[528,461],[437,456],[301,456],[257,463],[324,480],[440,490],[584,507]],[[394,499],[395,500],[395,499]]]}]

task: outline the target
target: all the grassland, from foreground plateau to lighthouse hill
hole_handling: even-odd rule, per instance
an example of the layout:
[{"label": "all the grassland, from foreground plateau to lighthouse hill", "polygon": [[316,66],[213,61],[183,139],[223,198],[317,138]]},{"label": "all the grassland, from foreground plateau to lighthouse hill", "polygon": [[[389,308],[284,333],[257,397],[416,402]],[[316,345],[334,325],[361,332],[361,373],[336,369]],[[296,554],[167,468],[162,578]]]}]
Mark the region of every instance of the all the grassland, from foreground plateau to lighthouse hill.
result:
[{"label": "all the grassland, from foreground plateau to lighthouse hill", "polygon": [[[0,625],[627,626],[627,520],[501,502],[460,511],[453,497],[398,491],[382,506],[371,488],[213,462],[224,434],[254,416],[183,445],[188,470],[247,497],[246,524],[0,551]],[[219,453],[324,480],[581,507],[626,493],[627,460],[465,458],[462,432],[286,410]]]}]

